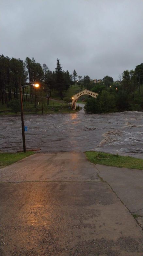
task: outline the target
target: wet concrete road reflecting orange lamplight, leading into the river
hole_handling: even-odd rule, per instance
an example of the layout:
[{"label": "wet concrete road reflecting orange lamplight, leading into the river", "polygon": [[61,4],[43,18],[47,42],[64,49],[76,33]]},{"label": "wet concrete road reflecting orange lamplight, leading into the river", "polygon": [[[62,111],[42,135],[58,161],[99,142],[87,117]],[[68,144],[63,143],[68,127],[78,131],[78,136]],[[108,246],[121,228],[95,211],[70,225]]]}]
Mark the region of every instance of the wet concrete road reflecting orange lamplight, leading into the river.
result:
[{"label": "wet concrete road reflecting orange lamplight, leading into the river", "polygon": [[1,169],[0,255],[142,256],[143,231],[99,168],[83,153],[55,153]]}]

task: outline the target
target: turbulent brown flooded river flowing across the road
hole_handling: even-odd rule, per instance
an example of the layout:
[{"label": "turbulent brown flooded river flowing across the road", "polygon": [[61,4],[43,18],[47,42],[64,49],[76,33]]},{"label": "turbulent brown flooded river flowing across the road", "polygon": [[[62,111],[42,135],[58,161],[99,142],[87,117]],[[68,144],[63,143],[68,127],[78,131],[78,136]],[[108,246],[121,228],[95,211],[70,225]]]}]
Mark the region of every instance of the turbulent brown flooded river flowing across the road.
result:
[{"label": "turbulent brown flooded river flowing across the road", "polygon": [[[0,150],[23,149],[21,116],[0,117]],[[143,113],[25,115],[26,148],[42,152],[96,150],[143,158]]]}]

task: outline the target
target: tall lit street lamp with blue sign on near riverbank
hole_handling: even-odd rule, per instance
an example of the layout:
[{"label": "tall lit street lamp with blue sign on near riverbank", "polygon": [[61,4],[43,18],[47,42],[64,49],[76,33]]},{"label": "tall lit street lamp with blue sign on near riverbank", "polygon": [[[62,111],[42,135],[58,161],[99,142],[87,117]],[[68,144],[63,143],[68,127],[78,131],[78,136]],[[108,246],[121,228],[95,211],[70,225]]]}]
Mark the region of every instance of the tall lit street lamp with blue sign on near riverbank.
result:
[{"label": "tall lit street lamp with blue sign on near riverbank", "polygon": [[23,117],[23,100],[22,100],[22,87],[25,86],[31,86],[33,85],[34,87],[38,88],[39,84],[27,84],[21,86],[20,84],[20,102],[21,102],[21,126],[22,126],[22,140],[23,140],[23,151],[26,152],[26,145],[25,145],[25,134],[24,134],[24,117]]}]

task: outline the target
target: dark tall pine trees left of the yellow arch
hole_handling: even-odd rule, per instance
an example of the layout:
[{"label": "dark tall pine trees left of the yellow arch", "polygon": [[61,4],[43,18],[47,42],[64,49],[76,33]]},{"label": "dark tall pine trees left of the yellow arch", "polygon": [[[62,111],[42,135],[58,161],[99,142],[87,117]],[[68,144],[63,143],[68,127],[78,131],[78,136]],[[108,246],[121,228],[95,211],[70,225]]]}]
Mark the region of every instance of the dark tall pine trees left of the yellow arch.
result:
[{"label": "dark tall pine trees left of the yellow arch", "polygon": [[[6,104],[8,101],[19,98],[19,88],[23,85],[40,83],[47,94],[51,90],[56,90],[60,98],[63,99],[63,93],[67,92],[70,85],[76,83],[77,73],[74,70],[72,74],[69,71],[63,71],[59,59],[56,61],[55,71],[50,71],[46,64],[42,66],[34,58],[26,57],[21,59],[9,58],[0,55],[0,102]],[[12,96],[13,94],[13,96]],[[23,87],[24,101],[33,101],[34,88]]]}]

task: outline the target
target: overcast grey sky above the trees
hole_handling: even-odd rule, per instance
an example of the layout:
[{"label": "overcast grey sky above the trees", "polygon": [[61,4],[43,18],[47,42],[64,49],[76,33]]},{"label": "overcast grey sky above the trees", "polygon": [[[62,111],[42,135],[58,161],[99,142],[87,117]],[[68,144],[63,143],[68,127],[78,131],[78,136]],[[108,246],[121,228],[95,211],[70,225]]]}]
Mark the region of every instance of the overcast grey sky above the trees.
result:
[{"label": "overcast grey sky above the trees", "polygon": [[0,54],[90,78],[143,63],[143,0],[0,0]]}]

